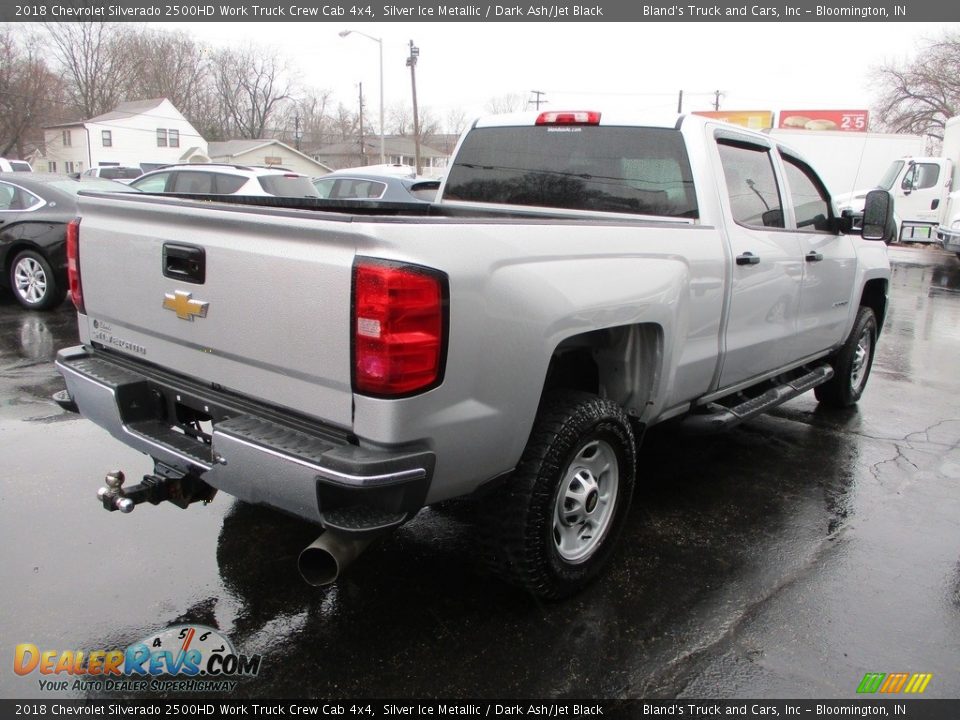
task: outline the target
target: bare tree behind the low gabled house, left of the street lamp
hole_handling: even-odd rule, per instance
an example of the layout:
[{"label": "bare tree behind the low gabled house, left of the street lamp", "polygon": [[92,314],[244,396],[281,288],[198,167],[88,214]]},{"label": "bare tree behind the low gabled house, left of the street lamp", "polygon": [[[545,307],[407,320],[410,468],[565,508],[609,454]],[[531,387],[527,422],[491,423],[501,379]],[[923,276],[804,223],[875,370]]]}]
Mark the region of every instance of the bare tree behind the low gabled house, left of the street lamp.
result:
[{"label": "bare tree behind the low gabled house, left of the street lamp", "polygon": [[263,137],[272,116],[291,96],[286,61],[276,50],[248,45],[213,53],[211,65],[231,134]]}]

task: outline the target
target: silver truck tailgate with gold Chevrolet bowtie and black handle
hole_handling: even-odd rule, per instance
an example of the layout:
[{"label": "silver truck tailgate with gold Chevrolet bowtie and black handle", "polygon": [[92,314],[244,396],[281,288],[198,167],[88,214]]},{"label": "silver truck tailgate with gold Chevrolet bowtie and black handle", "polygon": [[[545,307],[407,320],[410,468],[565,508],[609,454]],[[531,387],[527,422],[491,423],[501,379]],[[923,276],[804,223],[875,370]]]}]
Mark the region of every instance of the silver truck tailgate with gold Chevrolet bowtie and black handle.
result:
[{"label": "silver truck tailgate with gold Chevrolet bowtie and black handle", "polygon": [[251,210],[81,198],[81,337],[349,427],[349,224]]}]

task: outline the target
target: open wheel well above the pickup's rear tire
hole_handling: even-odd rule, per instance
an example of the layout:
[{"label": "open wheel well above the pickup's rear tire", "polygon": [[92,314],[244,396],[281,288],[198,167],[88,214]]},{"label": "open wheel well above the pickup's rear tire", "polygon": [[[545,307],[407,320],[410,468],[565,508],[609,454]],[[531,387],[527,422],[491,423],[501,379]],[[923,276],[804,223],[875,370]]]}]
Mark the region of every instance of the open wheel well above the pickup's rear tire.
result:
[{"label": "open wheel well above the pickup's rear tire", "polygon": [[639,417],[656,392],[662,356],[659,325],[628,325],[575,335],[554,350],[544,393],[559,389],[592,393]]}]

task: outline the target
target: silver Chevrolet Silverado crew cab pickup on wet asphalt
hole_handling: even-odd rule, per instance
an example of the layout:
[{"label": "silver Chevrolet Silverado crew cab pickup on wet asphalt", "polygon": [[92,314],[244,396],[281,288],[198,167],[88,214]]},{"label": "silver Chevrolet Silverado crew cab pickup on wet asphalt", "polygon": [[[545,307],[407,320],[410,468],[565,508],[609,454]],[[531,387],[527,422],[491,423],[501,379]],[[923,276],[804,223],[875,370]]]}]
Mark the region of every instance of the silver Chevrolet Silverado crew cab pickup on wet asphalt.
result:
[{"label": "silver Chevrolet Silverado crew cab pickup on wet asphalt", "polygon": [[100,501],[223,490],[306,518],[316,584],[472,496],[491,567],[575,592],[614,550],[645,428],[810,389],[856,403],[887,304],[889,194],[854,234],[799,155],[692,116],[478,120],[429,205],[80,209],[59,399],[155,460]]}]

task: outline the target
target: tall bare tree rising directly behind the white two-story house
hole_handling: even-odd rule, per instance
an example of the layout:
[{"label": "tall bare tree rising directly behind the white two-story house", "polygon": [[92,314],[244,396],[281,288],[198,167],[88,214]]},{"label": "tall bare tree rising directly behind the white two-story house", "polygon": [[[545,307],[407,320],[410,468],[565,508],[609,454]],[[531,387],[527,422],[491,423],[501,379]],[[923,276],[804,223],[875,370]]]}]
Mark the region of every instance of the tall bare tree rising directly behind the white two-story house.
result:
[{"label": "tall bare tree rising directly behind the white two-story house", "polygon": [[116,23],[46,23],[54,59],[74,110],[90,118],[115,108],[126,99],[134,81],[130,61],[129,27]]}]

